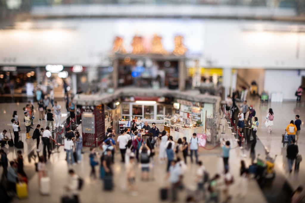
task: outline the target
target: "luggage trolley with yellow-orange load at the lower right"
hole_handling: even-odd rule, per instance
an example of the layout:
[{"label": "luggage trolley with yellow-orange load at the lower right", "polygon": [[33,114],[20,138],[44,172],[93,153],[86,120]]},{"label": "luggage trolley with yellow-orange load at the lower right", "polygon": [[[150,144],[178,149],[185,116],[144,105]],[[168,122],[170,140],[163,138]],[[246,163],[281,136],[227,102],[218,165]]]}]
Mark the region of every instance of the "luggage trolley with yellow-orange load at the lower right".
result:
[{"label": "luggage trolley with yellow-orange load at the lower right", "polygon": [[265,159],[260,159],[260,155],[257,156],[257,175],[260,178],[265,179],[273,179],[275,177],[275,170],[274,170],[274,161],[277,155],[272,158],[269,153],[267,153]]}]

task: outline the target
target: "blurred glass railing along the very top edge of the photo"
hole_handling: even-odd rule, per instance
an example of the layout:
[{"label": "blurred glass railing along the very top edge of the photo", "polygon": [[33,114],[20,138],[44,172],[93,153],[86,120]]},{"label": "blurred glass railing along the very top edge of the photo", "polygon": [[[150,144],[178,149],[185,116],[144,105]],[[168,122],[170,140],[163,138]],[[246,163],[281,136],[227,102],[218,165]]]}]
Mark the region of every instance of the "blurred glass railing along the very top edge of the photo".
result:
[{"label": "blurred glass railing along the very top edge of the photo", "polygon": [[304,0],[32,0],[32,5],[233,5],[296,8]]}]

